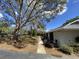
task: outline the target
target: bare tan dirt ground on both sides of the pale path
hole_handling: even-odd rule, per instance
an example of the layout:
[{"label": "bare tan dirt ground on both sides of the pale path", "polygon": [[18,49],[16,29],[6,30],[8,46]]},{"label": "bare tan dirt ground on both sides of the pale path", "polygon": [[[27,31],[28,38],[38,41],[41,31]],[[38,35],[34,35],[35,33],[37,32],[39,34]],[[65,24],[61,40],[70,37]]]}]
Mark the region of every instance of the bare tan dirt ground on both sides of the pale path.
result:
[{"label": "bare tan dirt ground on both sides of the pale path", "polygon": [[[8,45],[6,43],[0,44],[0,49],[4,50],[10,50],[10,51],[23,51],[23,52],[31,52],[31,53],[37,53],[37,45],[27,44],[25,48],[18,49],[12,45]],[[62,57],[63,53],[58,51],[56,48],[47,48],[45,47],[46,54]]]}]

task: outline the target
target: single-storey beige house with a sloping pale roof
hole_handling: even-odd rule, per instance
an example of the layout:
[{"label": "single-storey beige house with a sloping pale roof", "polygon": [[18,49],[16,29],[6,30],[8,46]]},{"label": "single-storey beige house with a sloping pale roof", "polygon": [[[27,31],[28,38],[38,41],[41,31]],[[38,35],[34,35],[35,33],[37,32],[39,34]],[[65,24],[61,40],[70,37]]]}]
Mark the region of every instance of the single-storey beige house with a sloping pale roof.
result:
[{"label": "single-storey beige house with a sloping pale roof", "polygon": [[79,19],[65,24],[59,28],[46,33],[48,41],[56,43],[58,46],[75,43],[75,39],[79,37]]}]

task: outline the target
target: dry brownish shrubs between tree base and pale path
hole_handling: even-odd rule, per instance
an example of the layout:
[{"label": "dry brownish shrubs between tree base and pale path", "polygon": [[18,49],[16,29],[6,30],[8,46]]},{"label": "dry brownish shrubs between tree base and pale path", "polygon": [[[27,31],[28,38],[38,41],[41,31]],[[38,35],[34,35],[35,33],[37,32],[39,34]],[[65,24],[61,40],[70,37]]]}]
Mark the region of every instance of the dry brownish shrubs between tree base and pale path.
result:
[{"label": "dry brownish shrubs between tree base and pale path", "polygon": [[31,37],[28,37],[26,35],[21,35],[18,37],[18,40],[10,40],[8,41],[8,44],[13,45],[16,48],[25,48],[27,46],[27,44],[31,44],[31,45],[36,45],[37,44],[37,40]]}]

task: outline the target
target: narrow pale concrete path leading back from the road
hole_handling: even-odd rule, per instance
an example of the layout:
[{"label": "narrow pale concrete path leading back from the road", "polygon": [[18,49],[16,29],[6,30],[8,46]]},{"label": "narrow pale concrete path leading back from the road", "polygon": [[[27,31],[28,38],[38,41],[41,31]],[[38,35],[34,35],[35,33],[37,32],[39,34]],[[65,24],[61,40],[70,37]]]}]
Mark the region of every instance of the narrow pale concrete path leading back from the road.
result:
[{"label": "narrow pale concrete path leading back from the road", "polygon": [[39,54],[46,54],[45,47],[43,46],[43,41],[41,40],[40,36],[38,36],[37,53],[39,53]]}]

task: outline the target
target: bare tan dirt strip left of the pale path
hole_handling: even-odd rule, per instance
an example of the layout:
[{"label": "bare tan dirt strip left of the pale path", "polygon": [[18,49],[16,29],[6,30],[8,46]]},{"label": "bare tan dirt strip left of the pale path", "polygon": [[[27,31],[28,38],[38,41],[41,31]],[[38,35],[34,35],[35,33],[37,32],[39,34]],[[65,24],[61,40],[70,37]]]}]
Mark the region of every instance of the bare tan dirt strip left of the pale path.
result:
[{"label": "bare tan dirt strip left of the pale path", "polygon": [[25,52],[36,53],[37,45],[27,44],[27,46],[25,48],[18,49],[12,45],[8,45],[8,44],[4,43],[4,44],[0,44],[0,49],[10,50],[10,51],[25,51]]}]

